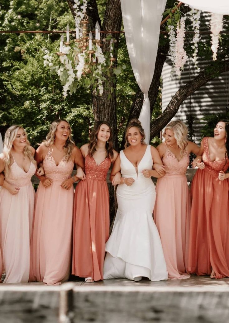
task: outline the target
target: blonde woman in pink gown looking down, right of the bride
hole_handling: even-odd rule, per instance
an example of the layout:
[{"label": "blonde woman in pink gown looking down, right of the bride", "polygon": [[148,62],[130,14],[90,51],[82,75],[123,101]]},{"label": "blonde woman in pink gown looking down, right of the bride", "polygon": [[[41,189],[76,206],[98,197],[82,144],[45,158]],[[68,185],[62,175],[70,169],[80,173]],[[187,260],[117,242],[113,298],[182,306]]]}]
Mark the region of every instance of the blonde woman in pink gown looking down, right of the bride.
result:
[{"label": "blonde woman in pink gown looking down, right of the bride", "polygon": [[189,141],[187,135],[188,129],[182,121],[171,121],[163,133],[165,141],[157,147],[163,162],[157,171],[165,171],[165,176],[157,181],[153,217],[171,279],[190,276],[185,270],[190,221],[190,196],[185,173],[189,154],[198,155],[200,148]]}]

